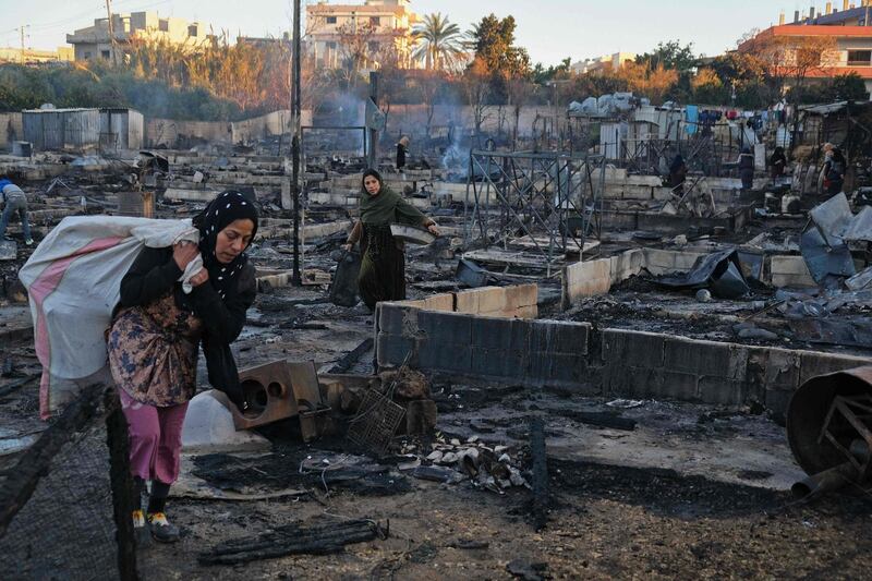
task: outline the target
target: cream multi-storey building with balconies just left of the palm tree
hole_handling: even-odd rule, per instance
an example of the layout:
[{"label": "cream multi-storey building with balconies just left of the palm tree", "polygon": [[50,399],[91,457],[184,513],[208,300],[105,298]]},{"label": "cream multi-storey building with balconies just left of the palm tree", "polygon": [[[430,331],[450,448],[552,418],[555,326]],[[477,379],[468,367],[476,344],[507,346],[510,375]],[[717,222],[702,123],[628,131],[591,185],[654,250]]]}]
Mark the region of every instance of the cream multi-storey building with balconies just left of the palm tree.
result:
[{"label": "cream multi-storey building with balconies just left of the palm tree", "polygon": [[306,5],[308,49],[319,66],[339,69],[351,52],[365,53],[365,68],[378,69],[385,58],[396,58],[403,69],[420,65],[412,59],[412,28],[417,16],[410,0],[365,0],[363,4]]}]

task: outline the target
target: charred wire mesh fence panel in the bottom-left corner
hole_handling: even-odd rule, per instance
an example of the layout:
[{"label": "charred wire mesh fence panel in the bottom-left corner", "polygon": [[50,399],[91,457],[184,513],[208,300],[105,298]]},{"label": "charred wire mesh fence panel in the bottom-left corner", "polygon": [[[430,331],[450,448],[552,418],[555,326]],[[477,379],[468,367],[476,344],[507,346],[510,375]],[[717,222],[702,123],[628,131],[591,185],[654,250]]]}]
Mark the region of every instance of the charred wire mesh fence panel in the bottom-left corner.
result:
[{"label": "charred wire mesh fence panel in the bottom-left corner", "polygon": [[0,474],[0,579],[136,579],[126,423],[94,386]]}]

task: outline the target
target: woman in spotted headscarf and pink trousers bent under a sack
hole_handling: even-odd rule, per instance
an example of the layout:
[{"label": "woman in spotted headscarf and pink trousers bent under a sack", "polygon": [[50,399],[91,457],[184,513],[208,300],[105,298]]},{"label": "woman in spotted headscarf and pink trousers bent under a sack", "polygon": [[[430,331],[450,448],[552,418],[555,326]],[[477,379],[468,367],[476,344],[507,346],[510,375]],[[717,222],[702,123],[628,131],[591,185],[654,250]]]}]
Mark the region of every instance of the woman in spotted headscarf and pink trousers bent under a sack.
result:
[{"label": "woman in spotted headscarf and pink trousers bent under a sack", "polygon": [[[254,303],[254,267],[244,251],[257,232],[257,210],[238,192],[219,194],[194,218],[199,244],[144,249],[121,281],[121,301],[108,334],[109,367],[119,387],[130,433],[130,463],[135,492],[137,538],[171,543],[179,529],[165,513],[170,485],[179,475],[182,423],[196,390],[201,341],[209,383],[227,386],[242,403],[230,343]],[[180,277],[197,256],[203,268],[190,278],[185,294]],[[140,505],[152,481],[146,513]]]}]

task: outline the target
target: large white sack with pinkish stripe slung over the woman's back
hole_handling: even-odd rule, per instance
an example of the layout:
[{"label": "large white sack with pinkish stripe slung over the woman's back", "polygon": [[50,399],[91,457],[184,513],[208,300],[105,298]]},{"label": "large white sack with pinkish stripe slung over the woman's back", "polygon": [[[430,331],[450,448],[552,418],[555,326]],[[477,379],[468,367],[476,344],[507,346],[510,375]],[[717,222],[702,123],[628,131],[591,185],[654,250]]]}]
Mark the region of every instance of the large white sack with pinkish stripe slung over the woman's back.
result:
[{"label": "large white sack with pinkish stripe slung over the woman's back", "polygon": [[105,331],[121,279],[143,247],[198,242],[191,220],[110,216],[69,217],[49,233],[19,273],[34,319],[43,364],[39,411],[47,419],[77,386],[106,365]]}]

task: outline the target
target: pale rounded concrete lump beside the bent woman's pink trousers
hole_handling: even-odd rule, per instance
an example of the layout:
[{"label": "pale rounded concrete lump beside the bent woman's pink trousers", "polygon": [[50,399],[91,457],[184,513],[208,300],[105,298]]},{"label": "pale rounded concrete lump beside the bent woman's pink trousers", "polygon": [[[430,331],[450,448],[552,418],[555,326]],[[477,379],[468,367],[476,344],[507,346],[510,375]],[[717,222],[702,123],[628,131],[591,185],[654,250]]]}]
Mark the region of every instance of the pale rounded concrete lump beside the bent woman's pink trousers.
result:
[{"label": "pale rounded concrete lump beside the bent woman's pink trousers", "polygon": [[183,452],[268,451],[271,444],[253,432],[237,432],[230,410],[215,390],[197,394],[187,406],[182,427]]}]

